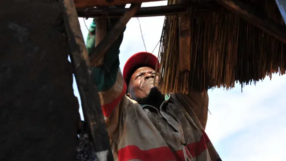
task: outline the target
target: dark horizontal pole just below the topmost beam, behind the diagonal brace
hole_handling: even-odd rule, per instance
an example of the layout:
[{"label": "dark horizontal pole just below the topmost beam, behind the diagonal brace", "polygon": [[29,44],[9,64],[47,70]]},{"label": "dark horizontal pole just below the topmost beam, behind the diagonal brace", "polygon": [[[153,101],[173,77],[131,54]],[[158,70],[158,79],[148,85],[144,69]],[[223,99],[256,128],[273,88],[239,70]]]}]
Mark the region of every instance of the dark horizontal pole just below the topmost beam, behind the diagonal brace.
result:
[{"label": "dark horizontal pole just below the topmost beam, behind the diagonal brace", "polygon": [[[209,2],[205,4],[193,4],[193,5],[163,5],[163,6],[151,6],[139,8],[134,17],[149,17],[149,16],[163,16],[163,15],[175,15],[180,13],[186,13],[188,8],[192,6],[192,12],[217,10],[220,5],[216,2]],[[121,17],[128,8],[79,8],[77,14],[79,17]]]}]

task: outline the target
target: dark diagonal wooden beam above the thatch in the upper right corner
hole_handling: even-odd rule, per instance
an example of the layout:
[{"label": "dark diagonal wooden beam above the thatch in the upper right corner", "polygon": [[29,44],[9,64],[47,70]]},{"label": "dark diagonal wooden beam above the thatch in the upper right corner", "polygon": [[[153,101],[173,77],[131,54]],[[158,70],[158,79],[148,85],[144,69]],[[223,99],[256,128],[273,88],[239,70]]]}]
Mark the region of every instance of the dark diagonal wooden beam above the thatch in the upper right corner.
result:
[{"label": "dark diagonal wooden beam above the thatch in the upper right corner", "polygon": [[239,0],[215,0],[218,4],[237,14],[254,26],[267,32],[286,44],[286,27],[274,20],[263,16]]}]

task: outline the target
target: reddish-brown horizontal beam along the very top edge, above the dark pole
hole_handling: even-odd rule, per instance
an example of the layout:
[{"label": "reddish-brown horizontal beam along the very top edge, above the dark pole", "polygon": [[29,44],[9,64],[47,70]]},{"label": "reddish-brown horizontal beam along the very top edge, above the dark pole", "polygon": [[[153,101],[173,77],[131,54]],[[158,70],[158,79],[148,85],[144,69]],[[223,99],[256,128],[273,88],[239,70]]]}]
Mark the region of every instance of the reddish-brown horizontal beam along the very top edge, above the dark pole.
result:
[{"label": "reddish-brown horizontal beam along the very top edge, above the dark pole", "polygon": [[129,3],[143,3],[162,0],[74,0],[76,8],[88,8],[94,6],[115,6]]}]

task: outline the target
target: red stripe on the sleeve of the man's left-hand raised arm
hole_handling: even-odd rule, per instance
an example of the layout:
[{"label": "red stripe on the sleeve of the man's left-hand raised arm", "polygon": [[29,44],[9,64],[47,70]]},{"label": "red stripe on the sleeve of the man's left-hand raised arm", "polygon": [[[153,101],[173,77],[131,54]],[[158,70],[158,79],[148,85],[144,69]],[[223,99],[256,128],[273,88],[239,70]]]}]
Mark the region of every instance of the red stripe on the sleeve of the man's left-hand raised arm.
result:
[{"label": "red stripe on the sleeve of the man's left-hand raised arm", "polygon": [[127,89],[127,85],[124,82],[121,94],[116,99],[111,101],[110,103],[107,103],[107,104],[104,104],[104,105],[101,106],[103,115],[105,117],[109,117],[110,116],[111,112],[114,110],[114,108],[118,105],[118,103],[121,101],[121,99],[125,95],[126,89]]}]

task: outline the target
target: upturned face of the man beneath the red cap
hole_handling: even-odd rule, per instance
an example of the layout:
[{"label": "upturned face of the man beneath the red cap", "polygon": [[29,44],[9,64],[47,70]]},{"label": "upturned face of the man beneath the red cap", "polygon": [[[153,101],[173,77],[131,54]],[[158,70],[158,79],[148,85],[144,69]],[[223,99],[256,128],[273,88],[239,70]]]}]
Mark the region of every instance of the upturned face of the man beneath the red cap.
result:
[{"label": "upturned face of the man beneath the red cap", "polygon": [[[129,82],[130,94],[132,99],[144,99],[149,95],[150,89],[154,86],[155,70],[149,67],[141,67],[137,69],[131,76]],[[156,75],[156,83],[158,84],[158,75]]]}]

